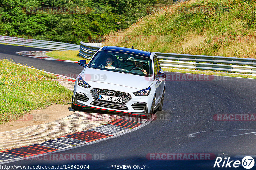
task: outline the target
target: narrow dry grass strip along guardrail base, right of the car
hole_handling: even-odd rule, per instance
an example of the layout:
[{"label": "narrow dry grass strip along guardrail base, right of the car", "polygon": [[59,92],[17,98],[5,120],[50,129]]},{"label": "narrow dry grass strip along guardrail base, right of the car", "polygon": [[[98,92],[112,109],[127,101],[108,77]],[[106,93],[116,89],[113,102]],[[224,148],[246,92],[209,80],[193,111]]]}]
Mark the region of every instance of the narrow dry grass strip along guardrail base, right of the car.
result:
[{"label": "narrow dry grass strip along guardrail base, right of the car", "polygon": [[170,71],[170,72],[179,72],[179,73],[192,73],[192,74],[205,74],[205,75],[218,75],[218,76],[228,76],[228,77],[243,77],[243,78],[252,78],[256,79],[256,76],[253,75],[243,75],[243,74],[235,74],[235,73],[229,73],[229,72],[212,72],[212,71],[197,71],[197,70],[188,70],[188,69],[177,69],[177,68],[163,68],[164,71]]}]

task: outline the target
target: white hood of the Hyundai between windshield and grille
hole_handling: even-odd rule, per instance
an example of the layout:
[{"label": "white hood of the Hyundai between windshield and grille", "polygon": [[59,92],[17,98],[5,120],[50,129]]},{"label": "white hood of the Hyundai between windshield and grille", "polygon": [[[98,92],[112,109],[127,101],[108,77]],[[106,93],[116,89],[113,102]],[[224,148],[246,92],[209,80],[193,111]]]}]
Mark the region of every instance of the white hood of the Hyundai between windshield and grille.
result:
[{"label": "white hood of the Hyundai between windshield and grille", "polygon": [[114,71],[100,70],[86,67],[82,73],[84,81],[91,86],[95,83],[114,84],[138,90],[146,89],[153,83],[152,77],[144,77],[134,74],[126,74]]}]

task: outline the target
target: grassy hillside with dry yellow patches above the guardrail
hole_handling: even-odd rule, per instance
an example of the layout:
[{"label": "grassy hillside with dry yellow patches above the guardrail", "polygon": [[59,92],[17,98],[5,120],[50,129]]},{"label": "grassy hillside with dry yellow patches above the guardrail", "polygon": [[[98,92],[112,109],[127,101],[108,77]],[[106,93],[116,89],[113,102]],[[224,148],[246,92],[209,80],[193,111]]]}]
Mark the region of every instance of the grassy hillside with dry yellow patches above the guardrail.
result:
[{"label": "grassy hillside with dry yellow patches above the guardrail", "polygon": [[256,58],[255,0],[191,0],[155,10],[107,45],[147,51]]}]

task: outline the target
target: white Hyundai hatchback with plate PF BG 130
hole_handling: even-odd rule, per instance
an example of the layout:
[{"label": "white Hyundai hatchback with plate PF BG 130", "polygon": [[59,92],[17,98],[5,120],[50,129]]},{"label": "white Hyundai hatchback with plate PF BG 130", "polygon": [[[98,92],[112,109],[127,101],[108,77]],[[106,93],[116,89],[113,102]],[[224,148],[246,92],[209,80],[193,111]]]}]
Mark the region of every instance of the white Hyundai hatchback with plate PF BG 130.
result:
[{"label": "white Hyundai hatchback with plate PF BG 130", "polygon": [[166,75],[155,53],[101,47],[76,78],[72,109],[84,108],[152,117],[162,110]]}]

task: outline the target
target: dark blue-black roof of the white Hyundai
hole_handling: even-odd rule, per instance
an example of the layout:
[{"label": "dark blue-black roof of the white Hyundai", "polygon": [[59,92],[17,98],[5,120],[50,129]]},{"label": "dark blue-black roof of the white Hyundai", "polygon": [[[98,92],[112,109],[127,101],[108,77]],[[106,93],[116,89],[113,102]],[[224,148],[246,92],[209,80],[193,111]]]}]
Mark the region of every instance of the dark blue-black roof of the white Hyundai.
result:
[{"label": "dark blue-black roof of the white Hyundai", "polygon": [[112,51],[112,52],[118,52],[118,53],[126,53],[126,54],[133,54],[133,55],[139,55],[142,57],[148,57],[150,58],[150,55],[152,52],[138,50],[134,48],[126,48],[126,47],[119,47],[119,46],[104,46],[101,51]]}]

